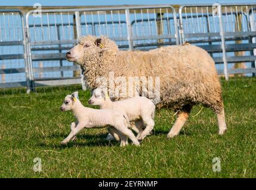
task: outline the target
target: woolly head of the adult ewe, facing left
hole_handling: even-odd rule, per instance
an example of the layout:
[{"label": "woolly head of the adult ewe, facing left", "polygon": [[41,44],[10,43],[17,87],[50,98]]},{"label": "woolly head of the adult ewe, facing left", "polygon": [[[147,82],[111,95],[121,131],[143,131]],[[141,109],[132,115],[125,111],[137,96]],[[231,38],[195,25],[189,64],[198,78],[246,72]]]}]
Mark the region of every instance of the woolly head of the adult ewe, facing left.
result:
[{"label": "woolly head of the adult ewe, facing left", "polygon": [[97,60],[105,52],[117,52],[118,46],[107,37],[84,36],[78,39],[78,45],[70,49],[66,58],[67,61],[84,65],[87,60]]}]

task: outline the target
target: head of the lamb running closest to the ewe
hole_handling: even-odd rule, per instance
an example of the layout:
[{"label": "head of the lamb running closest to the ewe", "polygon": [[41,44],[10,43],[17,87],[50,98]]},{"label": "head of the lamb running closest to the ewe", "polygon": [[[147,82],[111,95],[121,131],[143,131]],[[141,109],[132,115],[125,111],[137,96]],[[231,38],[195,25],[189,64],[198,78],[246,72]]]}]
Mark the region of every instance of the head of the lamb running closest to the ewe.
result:
[{"label": "head of the lamb running closest to the ewe", "polygon": [[100,106],[106,100],[110,100],[109,95],[107,95],[107,92],[102,88],[96,88],[95,90],[92,91],[92,96],[88,100],[88,103],[90,105]]}]

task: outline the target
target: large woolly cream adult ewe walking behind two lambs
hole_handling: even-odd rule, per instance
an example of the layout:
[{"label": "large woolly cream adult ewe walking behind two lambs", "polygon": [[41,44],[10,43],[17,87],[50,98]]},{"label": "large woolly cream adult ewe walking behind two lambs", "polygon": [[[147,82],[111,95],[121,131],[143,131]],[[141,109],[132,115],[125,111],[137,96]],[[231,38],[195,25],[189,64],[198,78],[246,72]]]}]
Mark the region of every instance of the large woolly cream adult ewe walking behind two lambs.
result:
[{"label": "large woolly cream adult ewe walking behind two lambs", "polygon": [[[101,86],[97,78],[108,78],[110,72],[116,77],[126,77],[127,81],[128,77],[160,77],[160,101],[156,106],[177,112],[169,138],[178,135],[190,110],[199,103],[217,114],[220,135],[227,130],[215,64],[200,47],[178,45],[147,52],[124,51],[107,37],[84,36],[66,57],[81,65],[85,83],[91,90]],[[137,90],[140,94],[143,91]]]}]

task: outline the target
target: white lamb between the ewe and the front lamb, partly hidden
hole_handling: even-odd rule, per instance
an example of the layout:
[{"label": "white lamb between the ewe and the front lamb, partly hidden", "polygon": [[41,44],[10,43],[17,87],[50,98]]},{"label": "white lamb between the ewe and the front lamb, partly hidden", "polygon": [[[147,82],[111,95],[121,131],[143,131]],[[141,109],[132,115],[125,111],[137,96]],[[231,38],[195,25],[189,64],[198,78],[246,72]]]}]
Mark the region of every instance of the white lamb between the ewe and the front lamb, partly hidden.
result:
[{"label": "white lamb between the ewe and the front lamb, partly hidden", "polygon": [[[112,102],[102,88],[96,88],[92,92],[92,96],[88,103],[90,105],[98,105],[100,109],[115,109],[124,111],[129,121],[135,122],[135,126],[132,126],[134,131],[138,132],[137,139],[143,140],[152,131],[155,122],[155,105],[146,97],[133,97],[125,100],[119,100]],[[146,128],[143,130],[144,126]],[[112,134],[113,135],[113,134]],[[114,134],[114,137],[118,140],[118,137]],[[111,140],[111,136],[109,137]]]}]

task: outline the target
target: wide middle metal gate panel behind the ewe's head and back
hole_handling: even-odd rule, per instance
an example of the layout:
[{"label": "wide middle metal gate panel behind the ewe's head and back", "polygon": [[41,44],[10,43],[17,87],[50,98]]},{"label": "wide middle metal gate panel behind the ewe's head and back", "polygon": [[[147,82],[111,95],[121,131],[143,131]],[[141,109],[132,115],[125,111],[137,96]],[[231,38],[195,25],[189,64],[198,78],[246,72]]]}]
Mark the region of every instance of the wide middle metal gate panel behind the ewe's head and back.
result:
[{"label": "wide middle metal gate panel behind the ewe's head and back", "polygon": [[82,35],[108,36],[119,48],[150,49],[178,44],[174,8],[169,5],[44,9],[26,14],[31,88],[81,83],[78,65],[66,61],[66,51]]}]

